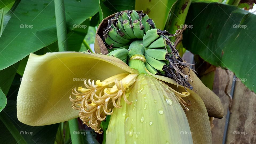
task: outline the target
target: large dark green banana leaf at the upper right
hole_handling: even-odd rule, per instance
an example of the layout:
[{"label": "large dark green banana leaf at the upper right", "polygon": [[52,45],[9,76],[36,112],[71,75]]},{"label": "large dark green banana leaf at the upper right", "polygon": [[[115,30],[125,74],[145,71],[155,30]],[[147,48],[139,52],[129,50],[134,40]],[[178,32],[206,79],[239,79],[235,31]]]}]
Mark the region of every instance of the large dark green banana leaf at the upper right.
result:
[{"label": "large dark green banana leaf at the upper right", "polygon": [[256,15],[221,3],[192,3],[183,46],[215,66],[235,73],[250,90],[256,82]]}]

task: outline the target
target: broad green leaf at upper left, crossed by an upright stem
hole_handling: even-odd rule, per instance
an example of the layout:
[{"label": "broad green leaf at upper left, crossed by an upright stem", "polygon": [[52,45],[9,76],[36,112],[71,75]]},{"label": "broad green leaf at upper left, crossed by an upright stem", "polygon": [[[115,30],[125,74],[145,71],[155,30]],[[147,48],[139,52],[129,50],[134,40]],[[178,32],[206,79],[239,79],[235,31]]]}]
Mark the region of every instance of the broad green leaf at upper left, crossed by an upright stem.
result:
[{"label": "broad green leaf at upper left, crossed by an upright stem", "polygon": [[[99,1],[65,0],[67,30],[99,11]],[[57,41],[54,1],[22,0],[0,38],[0,70]]]}]

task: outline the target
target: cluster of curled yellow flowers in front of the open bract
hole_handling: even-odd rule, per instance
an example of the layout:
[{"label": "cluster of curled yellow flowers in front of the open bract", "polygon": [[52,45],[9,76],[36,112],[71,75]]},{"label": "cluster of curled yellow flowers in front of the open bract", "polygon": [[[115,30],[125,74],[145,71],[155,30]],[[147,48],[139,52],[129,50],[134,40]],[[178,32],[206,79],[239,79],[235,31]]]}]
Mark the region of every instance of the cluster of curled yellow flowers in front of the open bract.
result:
[{"label": "cluster of curled yellow flowers in front of the open bract", "polygon": [[[134,83],[138,74],[122,73],[107,78],[104,81],[85,81],[85,88],[78,87],[72,90],[70,101],[73,109],[80,110],[79,117],[84,124],[93,128],[95,132],[102,133],[101,121],[106,115],[113,113],[113,108],[121,108],[123,98],[128,104],[125,91]],[[74,97],[75,96],[75,97]]]}]

